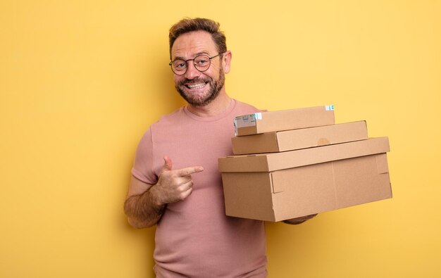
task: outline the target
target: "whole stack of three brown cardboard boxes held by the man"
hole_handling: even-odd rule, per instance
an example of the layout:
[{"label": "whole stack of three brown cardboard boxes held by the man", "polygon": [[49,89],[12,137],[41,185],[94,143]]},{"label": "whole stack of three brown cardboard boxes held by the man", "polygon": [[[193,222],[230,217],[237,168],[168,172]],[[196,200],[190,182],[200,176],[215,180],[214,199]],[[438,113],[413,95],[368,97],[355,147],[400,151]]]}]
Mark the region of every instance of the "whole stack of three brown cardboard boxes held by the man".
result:
[{"label": "whole stack of three brown cardboard boxes held by the man", "polygon": [[235,118],[234,156],[219,158],[225,213],[266,221],[392,198],[387,137],[335,124],[333,106]]}]

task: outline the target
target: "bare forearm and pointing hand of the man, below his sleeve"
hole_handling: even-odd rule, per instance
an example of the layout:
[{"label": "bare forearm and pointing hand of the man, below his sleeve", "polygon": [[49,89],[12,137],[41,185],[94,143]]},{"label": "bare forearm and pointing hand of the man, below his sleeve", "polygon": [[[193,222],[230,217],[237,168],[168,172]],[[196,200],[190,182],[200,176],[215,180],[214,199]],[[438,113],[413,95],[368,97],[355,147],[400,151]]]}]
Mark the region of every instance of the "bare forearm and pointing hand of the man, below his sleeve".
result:
[{"label": "bare forearm and pointing hand of the man, below his sleeve", "polygon": [[132,177],[124,203],[128,222],[135,228],[155,225],[168,203],[182,201],[193,190],[192,174],[204,170],[201,166],[172,170],[172,161],[164,157],[164,166],[156,184],[147,184]]}]

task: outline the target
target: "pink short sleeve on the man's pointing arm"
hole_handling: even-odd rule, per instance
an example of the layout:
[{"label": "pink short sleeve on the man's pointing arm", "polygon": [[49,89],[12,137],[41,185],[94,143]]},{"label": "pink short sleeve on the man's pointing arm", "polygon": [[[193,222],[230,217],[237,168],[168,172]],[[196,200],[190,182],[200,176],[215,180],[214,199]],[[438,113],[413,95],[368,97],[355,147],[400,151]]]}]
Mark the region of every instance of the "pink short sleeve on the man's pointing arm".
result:
[{"label": "pink short sleeve on the man's pointing arm", "polygon": [[158,177],[153,171],[153,161],[153,141],[151,140],[151,128],[149,128],[137,146],[132,175],[147,184],[156,184]]}]

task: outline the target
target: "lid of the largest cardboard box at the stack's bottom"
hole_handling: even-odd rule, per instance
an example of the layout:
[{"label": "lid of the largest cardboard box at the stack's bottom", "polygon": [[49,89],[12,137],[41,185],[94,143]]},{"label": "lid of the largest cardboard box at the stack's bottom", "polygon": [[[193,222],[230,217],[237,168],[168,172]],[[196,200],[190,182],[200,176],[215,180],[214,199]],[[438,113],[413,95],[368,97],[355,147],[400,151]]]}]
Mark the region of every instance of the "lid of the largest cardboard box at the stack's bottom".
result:
[{"label": "lid of the largest cardboard box at the stack's bottom", "polygon": [[389,139],[378,137],[282,153],[219,158],[218,168],[220,172],[271,172],[387,151],[390,151]]}]

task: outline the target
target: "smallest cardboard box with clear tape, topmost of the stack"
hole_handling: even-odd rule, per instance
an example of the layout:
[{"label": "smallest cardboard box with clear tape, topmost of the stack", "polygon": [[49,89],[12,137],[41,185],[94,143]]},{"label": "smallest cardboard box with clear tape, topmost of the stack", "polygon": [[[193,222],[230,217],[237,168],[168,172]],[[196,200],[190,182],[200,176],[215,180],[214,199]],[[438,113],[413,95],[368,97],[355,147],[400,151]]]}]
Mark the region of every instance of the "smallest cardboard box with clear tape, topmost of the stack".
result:
[{"label": "smallest cardboard box with clear tape, topmost of the stack", "polygon": [[334,106],[261,112],[234,119],[236,136],[334,124]]}]

